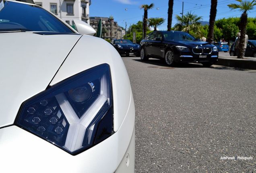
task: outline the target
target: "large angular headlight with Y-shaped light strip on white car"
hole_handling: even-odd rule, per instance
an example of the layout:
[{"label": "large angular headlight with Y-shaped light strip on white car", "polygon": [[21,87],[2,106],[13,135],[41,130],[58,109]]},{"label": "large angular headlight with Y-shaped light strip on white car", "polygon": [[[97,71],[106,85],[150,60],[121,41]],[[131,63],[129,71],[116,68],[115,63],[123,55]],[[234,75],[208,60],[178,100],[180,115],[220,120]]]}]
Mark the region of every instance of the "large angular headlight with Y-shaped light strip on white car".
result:
[{"label": "large angular headlight with Y-shaped light strip on white car", "polygon": [[113,126],[109,66],[76,74],[25,101],[16,124],[72,155],[103,141]]}]

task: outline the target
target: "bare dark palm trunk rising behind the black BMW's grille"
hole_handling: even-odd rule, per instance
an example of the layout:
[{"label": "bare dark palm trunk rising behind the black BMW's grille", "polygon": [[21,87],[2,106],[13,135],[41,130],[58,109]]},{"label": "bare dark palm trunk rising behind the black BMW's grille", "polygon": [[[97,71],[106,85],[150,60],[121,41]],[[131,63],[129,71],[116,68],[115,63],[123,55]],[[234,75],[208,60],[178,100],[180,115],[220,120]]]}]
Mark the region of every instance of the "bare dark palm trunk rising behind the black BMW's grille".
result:
[{"label": "bare dark palm trunk rising behind the black BMW's grille", "polygon": [[216,13],[217,13],[217,0],[211,0],[209,32],[207,36],[207,41],[210,43],[213,43],[213,28],[214,28]]}]

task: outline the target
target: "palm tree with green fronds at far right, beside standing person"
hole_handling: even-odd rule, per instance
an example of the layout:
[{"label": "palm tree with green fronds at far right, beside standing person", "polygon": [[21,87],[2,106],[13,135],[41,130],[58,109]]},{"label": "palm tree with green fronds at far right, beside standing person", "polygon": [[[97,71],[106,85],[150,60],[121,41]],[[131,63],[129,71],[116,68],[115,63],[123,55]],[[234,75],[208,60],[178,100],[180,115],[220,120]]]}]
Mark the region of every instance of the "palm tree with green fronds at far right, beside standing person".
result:
[{"label": "palm tree with green fronds at far right, beside standing person", "polygon": [[239,2],[238,4],[229,4],[229,8],[231,9],[239,9],[242,11],[242,15],[240,17],[240,42],[238,46],[238,55],[237,58],[244,58],[244,42],[245,42],[245,35],[246,35],[246,25],[247,25],[247,11],[252,10],[256,5],[255,0],[236,0]]}]

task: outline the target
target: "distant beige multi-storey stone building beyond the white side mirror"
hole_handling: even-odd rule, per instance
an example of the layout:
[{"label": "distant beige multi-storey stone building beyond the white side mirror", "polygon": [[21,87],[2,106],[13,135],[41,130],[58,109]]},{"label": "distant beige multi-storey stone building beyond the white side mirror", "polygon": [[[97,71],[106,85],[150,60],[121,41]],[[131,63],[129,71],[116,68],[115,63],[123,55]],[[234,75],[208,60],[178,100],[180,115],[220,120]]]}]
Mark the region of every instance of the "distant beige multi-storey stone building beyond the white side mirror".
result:
[{"label": "distant beige multi-storey stone building beyond the white side mirror", "polygon": [[105,39],[123,39],[124,28],[118,26],[114,21],[114,17],[90,17],[90,25],[97,31],[99,20],[102,20],[102,38]]}]

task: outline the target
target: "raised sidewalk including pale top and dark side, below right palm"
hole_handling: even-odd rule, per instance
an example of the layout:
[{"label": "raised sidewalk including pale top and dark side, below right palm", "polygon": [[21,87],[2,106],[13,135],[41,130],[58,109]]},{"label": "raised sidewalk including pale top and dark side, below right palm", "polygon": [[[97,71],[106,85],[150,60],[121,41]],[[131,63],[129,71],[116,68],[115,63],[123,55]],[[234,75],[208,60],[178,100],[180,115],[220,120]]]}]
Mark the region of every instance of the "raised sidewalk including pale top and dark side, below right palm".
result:
[{"label": "raised sidewalk including pale top and dark side, below right palm", "polygon": [[256,70],[256,58],[251,57],[244,57],[244,59],[238,59],[236,56],[227,57],[219,55],[219,60],[215,64]]}]

